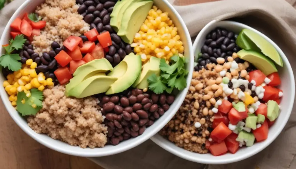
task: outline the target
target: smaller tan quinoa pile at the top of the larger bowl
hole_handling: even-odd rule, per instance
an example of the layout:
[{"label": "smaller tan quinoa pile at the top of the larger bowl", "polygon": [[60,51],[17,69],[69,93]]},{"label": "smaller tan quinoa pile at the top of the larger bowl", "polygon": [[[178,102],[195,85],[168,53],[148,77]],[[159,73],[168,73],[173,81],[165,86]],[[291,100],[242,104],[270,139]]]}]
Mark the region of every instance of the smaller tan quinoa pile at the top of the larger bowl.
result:
[{"label": "smaller tan quinoa pile at the top of the larger bowl", "polygon": [[46,26],[32,41],[34,52],[49,52],[53,41],[62,46],[69,36],[80,36],[89,30],[89,24],[77,12],[78,7],[75,0],[46,0],[37,7],[35,12],[46,21]]}]

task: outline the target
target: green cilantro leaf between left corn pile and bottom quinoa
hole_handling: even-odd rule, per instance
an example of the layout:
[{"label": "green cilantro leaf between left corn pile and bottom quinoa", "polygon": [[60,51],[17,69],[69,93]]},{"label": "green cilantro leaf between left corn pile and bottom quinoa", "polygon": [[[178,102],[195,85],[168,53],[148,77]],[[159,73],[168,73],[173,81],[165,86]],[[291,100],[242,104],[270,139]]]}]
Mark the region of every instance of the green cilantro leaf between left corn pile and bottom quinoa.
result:
[{"label": "green cilantro leaf between left corn pile and bottom quinoa", "polygon": [[[36,115],[42,108],[43,92],[36,88],[31,89],[30,92],[30,97],[27,97],[23,91],[17,94],[17,111],[20,112],[22,116]],[[24,104],[22,100],[25,100]],[[33,108],[32,104],[36,104],[36,108]]]}]

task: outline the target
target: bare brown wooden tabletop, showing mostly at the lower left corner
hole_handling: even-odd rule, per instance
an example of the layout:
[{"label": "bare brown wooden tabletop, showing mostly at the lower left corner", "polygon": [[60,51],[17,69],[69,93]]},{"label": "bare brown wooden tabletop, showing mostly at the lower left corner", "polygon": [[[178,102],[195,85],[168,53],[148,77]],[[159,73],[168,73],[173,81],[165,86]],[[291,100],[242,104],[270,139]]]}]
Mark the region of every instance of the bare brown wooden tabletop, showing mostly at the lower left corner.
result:
[{"label": "bare brown wooden tabletop, showing mostly at the lower left corner", "polygon": [[[296,0],[286,1],[296,8]],[[86,158],[56,152],[33,140],[12,120],[2,101],[0,101],[0,165],[1,169],[103,169]]]}]

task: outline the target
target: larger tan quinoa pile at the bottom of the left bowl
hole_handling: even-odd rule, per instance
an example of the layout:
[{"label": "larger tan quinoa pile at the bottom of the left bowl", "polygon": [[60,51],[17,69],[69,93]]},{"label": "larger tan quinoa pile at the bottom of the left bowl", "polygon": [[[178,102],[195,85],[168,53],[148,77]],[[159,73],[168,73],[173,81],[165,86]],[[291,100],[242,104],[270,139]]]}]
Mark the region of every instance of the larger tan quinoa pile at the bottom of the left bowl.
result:
[{"label": "larger tan quinoa pile at the bottom of the left bowl", "polygon": [[42,109],[28,117],[28,125],[36,133],[46,133],[53,139],[82,148],[104,147],[107,127],[98,99],[67,98],[65,86],[45,89]]}]

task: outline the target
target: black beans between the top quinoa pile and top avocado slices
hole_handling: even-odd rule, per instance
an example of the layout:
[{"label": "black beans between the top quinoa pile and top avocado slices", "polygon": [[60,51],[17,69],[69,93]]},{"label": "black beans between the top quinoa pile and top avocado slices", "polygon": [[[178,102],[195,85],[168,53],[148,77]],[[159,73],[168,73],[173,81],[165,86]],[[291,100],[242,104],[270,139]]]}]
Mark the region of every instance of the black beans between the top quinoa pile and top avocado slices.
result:
[{"label": "black beans between the top quinoa pile and top avocado slices", "polygon": [[110,33],[112,46],[109,46],[105,58],[113,67],[133,51],[131,45],[123,42],[110,26],[110,14],[116,2],[117,0],[76,0],[76,3],[80,4],[78,13],[83,16],[86,23],[90,24],[90,29],[96,28],[99,33],[105,31]]}]

